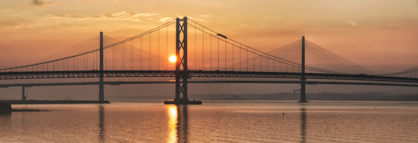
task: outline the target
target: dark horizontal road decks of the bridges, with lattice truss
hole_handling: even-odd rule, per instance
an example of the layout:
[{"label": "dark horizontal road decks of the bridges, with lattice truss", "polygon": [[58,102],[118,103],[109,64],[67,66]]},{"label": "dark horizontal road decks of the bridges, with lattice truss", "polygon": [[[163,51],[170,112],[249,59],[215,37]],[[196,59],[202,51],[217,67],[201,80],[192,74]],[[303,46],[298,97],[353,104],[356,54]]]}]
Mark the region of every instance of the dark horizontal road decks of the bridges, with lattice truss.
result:
[{"label": "dark horizontal road decks of the bridges, with lattice truss", "polygon": [[[181,74],[181,73],[179,73]],[[46,78],[88,78],[88,77],[175,77],[176,71],[161,70],[106,70],[106,71],[42,71],[42,72],[0,72],[2,79],[46,79]],[[415,86],[418,78],[373,76],[355,74],[318,74],[294,72],[240,72],[240,71],[194,71],[189,70],[188,76],[193,77],[228,77],[228,78],[289,78],[289,79],[336,79],[353,81],[385,81],[391,83],[362,82],[323,82],[305,81],[306,84],[353,84],[353,85],[385,85],[385,86]],[[165,84],[175,81],[105,81],[80,83],[39,83],[39,84],[0,84],[0,86],[58,86],[58,85],[96,85],[96,84]],[[395,83],[393,83],[395,82]],[[188,83],[293,83],[302,81],[188,81]]]}]

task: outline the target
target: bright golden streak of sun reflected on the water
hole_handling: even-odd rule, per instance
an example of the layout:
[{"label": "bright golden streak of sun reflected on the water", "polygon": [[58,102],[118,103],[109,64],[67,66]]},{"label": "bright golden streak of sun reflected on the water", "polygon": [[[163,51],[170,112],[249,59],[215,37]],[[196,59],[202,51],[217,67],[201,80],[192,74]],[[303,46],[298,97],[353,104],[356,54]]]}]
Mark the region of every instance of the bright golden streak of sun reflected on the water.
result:
[{"label": "bright golden streak of sun reflected on the water", "polygon": [[177,143],[177,106],[167,106],[168,109],[168,128],[170,132],[168,133],[167,143]]}]

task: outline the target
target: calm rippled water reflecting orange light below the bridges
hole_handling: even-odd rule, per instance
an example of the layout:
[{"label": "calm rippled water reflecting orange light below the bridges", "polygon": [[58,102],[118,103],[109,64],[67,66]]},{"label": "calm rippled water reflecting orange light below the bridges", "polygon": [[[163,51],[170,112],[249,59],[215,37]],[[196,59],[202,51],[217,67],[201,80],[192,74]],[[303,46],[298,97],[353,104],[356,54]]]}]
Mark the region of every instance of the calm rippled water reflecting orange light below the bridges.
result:
[{"label": "calm rippled water reflecting orange light below the bridges", "polygon": [[418,142],[418,102],[111,102],[0,114],[0,142]]}]

